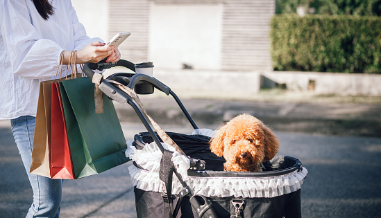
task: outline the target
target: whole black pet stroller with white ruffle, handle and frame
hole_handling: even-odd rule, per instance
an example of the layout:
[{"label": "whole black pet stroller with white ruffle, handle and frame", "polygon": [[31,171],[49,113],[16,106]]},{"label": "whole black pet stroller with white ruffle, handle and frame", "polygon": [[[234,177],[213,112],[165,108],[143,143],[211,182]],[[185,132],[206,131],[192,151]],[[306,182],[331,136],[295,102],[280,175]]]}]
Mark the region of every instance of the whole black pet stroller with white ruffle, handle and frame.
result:
[{"label": "whole black pet stroller with white ruffle, handle and frame", "polygon": [[[298,159],[277,155],[263,163],[263,172],[225,172],[224,159],[209,149],[213,131],[199,129],[169,87],[140,73],[102,78],[92,71],[112,66],[135,72],[135,64],[126,60],[85,64],[83,69],[109,98],[133,107],[148,130],[127,142],[137,217],[301,217],[300,185],[307,170]],[[137,93],[154,89],[176,100],[192,134],[164,132],[146,114]]]}]

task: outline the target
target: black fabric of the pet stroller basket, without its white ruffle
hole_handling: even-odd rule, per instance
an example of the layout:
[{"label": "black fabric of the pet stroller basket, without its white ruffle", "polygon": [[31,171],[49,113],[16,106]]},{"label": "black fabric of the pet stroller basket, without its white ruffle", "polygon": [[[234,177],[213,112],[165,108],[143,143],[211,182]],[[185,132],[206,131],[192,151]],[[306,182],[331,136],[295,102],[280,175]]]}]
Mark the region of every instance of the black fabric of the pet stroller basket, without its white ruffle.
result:
[{"label": "black fabric of the pet stroller basket, without its white ruffle", "polygon": [[[167,132],[176,144],[183,149],[185,154],[192,158],[203,159],[206,162],[207,170],[203,173],[189,171],[189,176],[234,176],[242,177],[261,177],[261,176],[275,176],[279,174],[287,174],[294,172],[301,167],[300,161],[296,158],[287,156],[276,156],[271,161],[264,163],[264,172],[223,172],[223,158],[216,156],[209,149],[209,140],[207,136],[201,135],[185,135]],[[146,143],[153,142],[149,133],[141,133],[135,135],[133,145],[137,149],[142,149]],[[212,165],[212,167],[208,167]],[[135,165],[137,166],[137,165]],[[139,166],[137,166],[139,167]],[[210,169],[212,168],[212,169]],[[135,206],[137,210],[137,217],[168,217],[169,205],[162,197],[162,193],[140,190],[134,188],[135,192]],[[173,203],[171,210],[174,210],[178,201],[178,194],[172,194],[171,199]],[[242,208],[236,210],[235,203],[232,199],[242,201]],[[301,217],[300,211],[300,189],[288,194],[282,194],[277,197],[208,197],[212,202],[214,211],[218,217],[231,217],[239,215],[241,217]],[[200,199],[202,202],[202,200]],[[236,213],[238,211],[238,213]],[[177,217],[197,217],[196,211],[189,203],[189,198],[185,197],[181,203],[180,210]]]}]

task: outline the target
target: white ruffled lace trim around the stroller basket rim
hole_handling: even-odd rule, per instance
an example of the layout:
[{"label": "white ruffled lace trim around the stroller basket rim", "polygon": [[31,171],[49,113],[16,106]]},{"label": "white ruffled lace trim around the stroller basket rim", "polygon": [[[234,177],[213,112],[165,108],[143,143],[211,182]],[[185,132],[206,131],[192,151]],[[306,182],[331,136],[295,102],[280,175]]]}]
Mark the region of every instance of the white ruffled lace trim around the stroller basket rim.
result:
[{"label": "white ruffled lace trim around the stroller basket rim", "polygon": [[[133,185],[145,191],[162,192],[162,182],[159,179],[162,153],[158,146],[153,142],[146,144],[142,150],[139,150],[132,146],[131,141],[128,141],[127,144],[126,156],[146,169],[141,170],[135,165],[128,167]],[[193,193],[205,197],[277,197],[299,190],[308,173],[307,169],[303,167],[300,172],[295,170],[289,174],[269,177],[188,176],[189,158],[175,152],[171,145],[166,143],[162,143],[162,145],[164,149],[174,152],[171,161],[173,161],[183,180],[192,188]],[[183,186],[173,174],[172,193],[178,194],[182,189]]]}]

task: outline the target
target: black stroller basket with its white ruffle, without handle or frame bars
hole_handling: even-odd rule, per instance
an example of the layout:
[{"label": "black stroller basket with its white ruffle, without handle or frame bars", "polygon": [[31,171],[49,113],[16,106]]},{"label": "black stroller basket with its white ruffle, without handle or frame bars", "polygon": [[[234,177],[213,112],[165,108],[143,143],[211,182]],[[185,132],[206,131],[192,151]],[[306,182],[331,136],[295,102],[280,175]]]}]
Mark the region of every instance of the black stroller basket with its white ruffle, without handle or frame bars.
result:
[{"label": "black stroller basket with its white ruffle, without handle or frame bars", "polygon": [[[170,133],[170,135],[172,138],[183,137],[183,134]],[[205,136],[189,135],[188,139],[194,142],[183,141],[185,145],[175,141],[188,155],[187,147],[189,144],[199,143],[198,137]],[[135,186],[138,217],[165,215],[166,203],[163,201],[162,183],[159,179],[160,150],[148,133],[135,135],[135,140],[130,145],[133,146],[130,146],[126,153],[134,161],[134,165],[128,170]],[[204,148],[206,146],[208,143],[199,145]],[[168,146],[166,149],[171,147]],[[193,154],[197,154],[198,158],[205,156],[208,159],[213,153],[205,149],[204,152]],[[147,155],[150,158],[146,158]],[[193,157],[192,154],[189,155]],[[271,161],[264,163],[266,170],[263,172],[220,171],[224,162],[221,159],[216,161],[220,170],[205,171],[187,170],[188,166],[176,158],[173,158],[173,162],[179,165],[178,171],[194,194],[206,197],[214,208],[218,208],[215,209],[218,217],[235,215],[233,199],[244,202],[244,206],[239,210],[239,215],[242,217],[301,217],[300,185],[307,175],[307,170],[296,158],[277,155]],[[208,166],[208,161],[206,162]],[[180,169],[180,166],[185,169]],[[173,181],[173,204],[176,204],[181,190],[180,183]],[[147,203],[150,201],[154,203]],[[179,215],[179,217],[197,217],[196,211],[192,210],[189,204],[189,199],[183,201]]]}]

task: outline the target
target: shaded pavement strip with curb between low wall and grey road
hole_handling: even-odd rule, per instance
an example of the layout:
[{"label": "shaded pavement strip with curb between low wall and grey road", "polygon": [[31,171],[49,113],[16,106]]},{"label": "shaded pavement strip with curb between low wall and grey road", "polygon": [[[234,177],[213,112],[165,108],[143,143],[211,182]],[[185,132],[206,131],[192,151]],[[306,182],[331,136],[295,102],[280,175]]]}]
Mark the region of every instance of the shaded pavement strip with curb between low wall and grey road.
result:
[{"label": "shaded pavement strip with curb between low wall and grey road", "polygon": [[[158,95],[160,96],[160,95]],[[189,125],[180,107],[171,96],[141,96],[149,115],[159,124]],[[381,137],[381,101],[337,102],[325,100],[221,100],[181,99],[185,109],[203,125],[222,125],[240,113],[256,116],[275,131],[289,131],[314,135]],[[139,122],[129,105],[115,104],[119,119]]]}]

